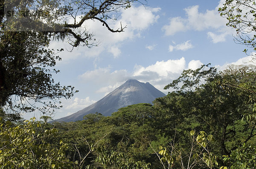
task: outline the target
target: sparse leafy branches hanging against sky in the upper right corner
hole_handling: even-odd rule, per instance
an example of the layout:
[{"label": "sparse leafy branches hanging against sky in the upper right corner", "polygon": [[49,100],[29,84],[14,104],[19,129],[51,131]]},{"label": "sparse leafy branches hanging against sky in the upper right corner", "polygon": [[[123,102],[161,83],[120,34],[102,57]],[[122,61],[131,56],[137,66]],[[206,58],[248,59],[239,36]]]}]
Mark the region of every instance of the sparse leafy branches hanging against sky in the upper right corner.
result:
[{"label": "sparse leafy branches hanging against sky in the upper right corner", "polygon": [[[226,0],[219,8],[220,15],[228,20],[227,26],[236,29],[236,42],[256,51],[256,4],[254,0]],[[247,53],[247,49],[244,49]],[[256,54],[253,60],[256,59]]]}]

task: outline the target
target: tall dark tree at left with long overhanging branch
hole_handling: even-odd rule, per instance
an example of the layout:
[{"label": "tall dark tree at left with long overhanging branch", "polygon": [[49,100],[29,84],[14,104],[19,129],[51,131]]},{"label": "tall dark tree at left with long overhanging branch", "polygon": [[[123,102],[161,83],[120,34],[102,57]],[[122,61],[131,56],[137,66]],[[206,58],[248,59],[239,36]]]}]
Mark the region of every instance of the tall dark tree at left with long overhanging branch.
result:
[{"label": "tall dark tree at left with long overhanging branch", "polygon": [[[51,38],[69,39],[73,47],[81,44],[92,47],[95,42],[93,34],[82,28],[82,24],[86,20],[99,20],[109,31],[122,32],[125,27],[121,25],[121,28],[113,30],[107,20],[115,20],[113,14],[119,8],[129,8],[134,1],[1,0],[0,106],[17,118],[20,112],[38,109],[49,113],[52,108],[58,108],[59,98],[68,99],[77,90],[61,86],[52,79],[52,73],[59,71],[53,68],[61,59],[57,54],[63,49],[56,52],[49,49]],[[35,13],[26,17],[24,13],[8,16],[10,11],[19,10]],[[39,15],[40,11],[43,14]],[[65,21],[69,17],[73,18],[71,24]]]}]

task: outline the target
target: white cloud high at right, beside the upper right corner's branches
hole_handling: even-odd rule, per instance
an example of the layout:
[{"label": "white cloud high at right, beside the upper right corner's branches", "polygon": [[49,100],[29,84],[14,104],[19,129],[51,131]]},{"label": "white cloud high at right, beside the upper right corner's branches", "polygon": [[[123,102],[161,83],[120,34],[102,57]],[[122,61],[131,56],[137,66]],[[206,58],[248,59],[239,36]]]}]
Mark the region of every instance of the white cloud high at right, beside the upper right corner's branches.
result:
[{"label": "white cloud high at right, beside the upper right corner's branches", "polygon": [[[208,37],[212,42],[224,42],[228,35],[233,34],[233,30],[226,26],[227,20],[220,16],[218,8],[223,4],[223,0],[214,10],[199,12],[199,6],[185,8],[186,17],[172,17],[168,25],[164,25],[162,30],[166,36],[174,35],[178,32],[188,30],[204,31],[209,30]],[[215,33],[212,33],[214,31]]]}]

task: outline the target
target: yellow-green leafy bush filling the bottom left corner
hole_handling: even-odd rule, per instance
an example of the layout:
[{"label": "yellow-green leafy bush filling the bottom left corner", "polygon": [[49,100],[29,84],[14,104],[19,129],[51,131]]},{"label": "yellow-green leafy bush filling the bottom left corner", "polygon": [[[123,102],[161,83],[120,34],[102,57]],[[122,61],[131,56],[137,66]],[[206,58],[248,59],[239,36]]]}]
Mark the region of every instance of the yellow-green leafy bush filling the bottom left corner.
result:
[{"label": "yellow-green leafy bush filling the bottom left corner", "polygon": [[0,118],[0,166],[1,169],[62,169],[72,168],[65,156],[67,144],[62,141],[54,146],[46,141],[57,129],[45,129],[44,124],[24,121],[16,125]]}]

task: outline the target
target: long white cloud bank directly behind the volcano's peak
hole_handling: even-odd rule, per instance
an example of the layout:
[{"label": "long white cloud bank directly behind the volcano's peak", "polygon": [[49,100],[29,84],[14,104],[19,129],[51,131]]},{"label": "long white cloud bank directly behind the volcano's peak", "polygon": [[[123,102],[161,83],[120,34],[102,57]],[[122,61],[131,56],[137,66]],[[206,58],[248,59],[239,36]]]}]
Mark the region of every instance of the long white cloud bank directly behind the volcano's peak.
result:
[{"label": "long white cloud bank directly behind the volcano's peak", "polygon": [[111,71],[111,67],[98,68],[85,72],[79,78],[98,85],[102,84],[99,85],[100,87],[96,90],[96,93],[104,93],[105,95],[112,92],[128,79],[150,82],[151,85],[166,93],[163,87],[172,82],[172,80],[177,79],[184,69],[196,69],[201,65],[202,63],[199,60],[192,60],[186,65],[186,60],[182,57],[180,59],[157,61],[155,64],[146,67],[135,65],[133,72],[128,72],[127,70]]}]

